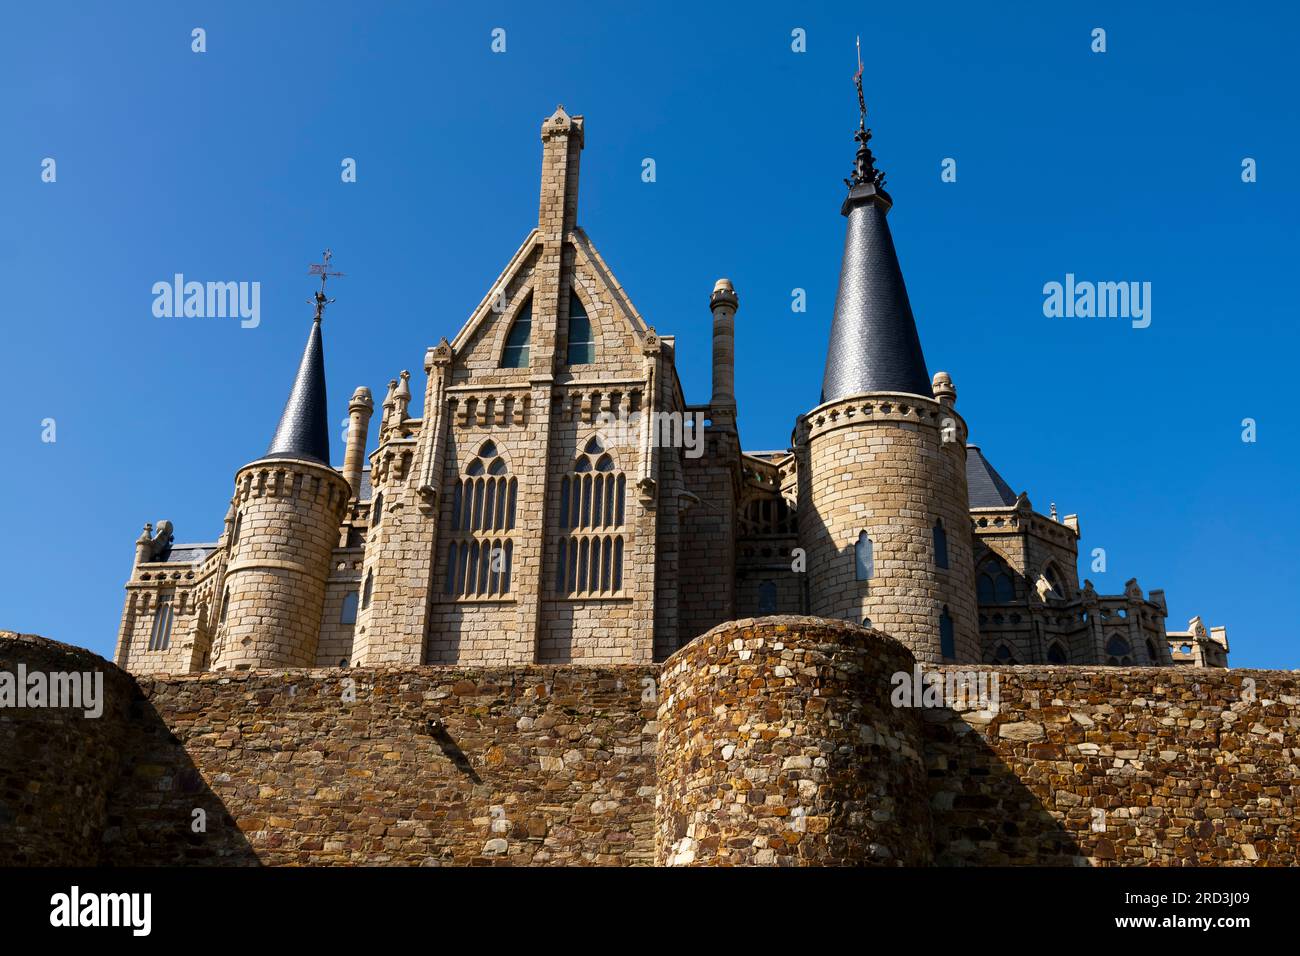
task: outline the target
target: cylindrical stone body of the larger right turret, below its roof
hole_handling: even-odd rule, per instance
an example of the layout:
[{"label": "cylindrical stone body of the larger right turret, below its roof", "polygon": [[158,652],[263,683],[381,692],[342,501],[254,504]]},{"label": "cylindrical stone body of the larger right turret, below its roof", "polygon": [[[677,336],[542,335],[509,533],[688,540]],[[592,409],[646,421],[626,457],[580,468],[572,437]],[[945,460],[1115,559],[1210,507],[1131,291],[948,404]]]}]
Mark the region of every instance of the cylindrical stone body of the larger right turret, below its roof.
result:
[{"label": "cylindrical stone body of the larger right turret, below its roof", "polygon": [[[978,661],[962,418],[952,406],[920,395],[854,395],[803,416],[797,441],[809,611],[870,620],[919,661],[940,663],[946,609],[956,652],[946,659]],[[948,567],[935,558],[939,519]],[[872,544],[868,580],[857,579],[854,550],[863,531]]]}]

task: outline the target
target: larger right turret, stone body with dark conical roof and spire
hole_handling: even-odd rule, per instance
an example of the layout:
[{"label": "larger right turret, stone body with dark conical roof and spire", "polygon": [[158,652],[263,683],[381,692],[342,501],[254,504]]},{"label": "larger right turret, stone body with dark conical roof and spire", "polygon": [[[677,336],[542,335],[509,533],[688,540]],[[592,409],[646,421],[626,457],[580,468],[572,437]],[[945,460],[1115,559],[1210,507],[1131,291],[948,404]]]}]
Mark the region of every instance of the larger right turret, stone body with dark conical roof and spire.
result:
[{"label": "larger right turret, stone body with dark conical roof and spire", "polygon": [[884,631],[920,661],[975,661],[966,423],[952,378],[926,368],[861,75],[822,403],[796,428],[809,609]]}]

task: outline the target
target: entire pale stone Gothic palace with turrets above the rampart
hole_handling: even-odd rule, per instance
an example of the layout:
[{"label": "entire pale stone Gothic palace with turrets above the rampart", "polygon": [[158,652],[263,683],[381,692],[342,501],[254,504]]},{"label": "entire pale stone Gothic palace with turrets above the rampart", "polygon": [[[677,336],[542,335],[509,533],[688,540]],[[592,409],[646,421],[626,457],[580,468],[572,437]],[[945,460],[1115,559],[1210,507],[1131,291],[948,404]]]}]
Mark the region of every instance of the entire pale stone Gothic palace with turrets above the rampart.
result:
[{"label": "entire pale stone Gothic palace with turrets above the rampart", "polygon": [[[822,402],[792,447],[741,449],[740,299],[708,298],[712,395],[689,405],[578,226],[585,127],[542,124],[537,228],[448,342],[348,405],[330,463],[324,294],[270,447],[235,473],[220,537],[135,545],[116,661],[134,672],[645,663],[715,624],[868,623],[919,661],[1223,667],[1222,628],[1166,633],[1165,596],[1098,594],[1079,520],[1035,510],[967,444],[930,376],[859,126]],[[828,224],[829,228],[829,224]],[[744,334],[744,333],[742,333]]]}]

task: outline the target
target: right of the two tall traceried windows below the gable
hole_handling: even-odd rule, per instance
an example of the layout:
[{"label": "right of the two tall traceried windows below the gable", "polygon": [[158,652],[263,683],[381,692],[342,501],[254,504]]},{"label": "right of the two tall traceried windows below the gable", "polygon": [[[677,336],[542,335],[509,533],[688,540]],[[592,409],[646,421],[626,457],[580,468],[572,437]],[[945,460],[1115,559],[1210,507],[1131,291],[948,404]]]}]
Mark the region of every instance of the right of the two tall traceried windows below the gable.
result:
[{"label": "right of the two tall traceried windows below the gable", "polygon": [[555,592],[610,597],[623,592],[627,477],[614,455],[592,437],[560,477],[560,537]]}]

